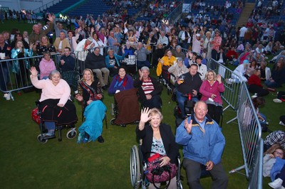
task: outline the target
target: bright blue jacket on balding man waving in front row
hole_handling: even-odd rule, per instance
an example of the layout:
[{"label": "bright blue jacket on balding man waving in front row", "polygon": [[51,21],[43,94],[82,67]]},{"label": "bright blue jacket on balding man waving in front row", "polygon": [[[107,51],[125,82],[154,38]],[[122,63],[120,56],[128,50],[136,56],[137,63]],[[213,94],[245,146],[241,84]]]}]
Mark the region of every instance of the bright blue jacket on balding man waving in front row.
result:
[{"label": "bright blue jacket on balding man waving in front row", "polygon": [[210,117],[205,117],[204,132],[194,117],[188,117],[187,121],[192,121],[192,131],[190,134],[185,129],[184,122],[176,130],[175,141],[183,146],[184,158],[197,161],[205,165],[207,161],[212,161],[215,165],[221,161],[224,151],[225,139],[219,125]]}]

